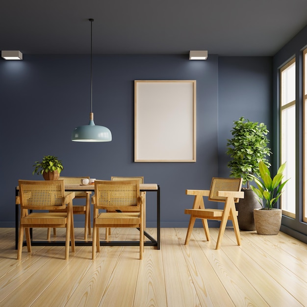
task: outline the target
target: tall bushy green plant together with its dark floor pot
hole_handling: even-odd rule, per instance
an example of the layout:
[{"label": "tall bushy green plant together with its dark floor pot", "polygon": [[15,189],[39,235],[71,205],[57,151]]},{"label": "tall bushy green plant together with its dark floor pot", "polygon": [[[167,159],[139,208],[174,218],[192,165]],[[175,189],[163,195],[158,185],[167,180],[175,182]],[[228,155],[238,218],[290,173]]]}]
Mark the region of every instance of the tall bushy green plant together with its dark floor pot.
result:
[{"label": "tall bushy green plant together with its dark floor pot", "polygon": [[250,188],[253,175],[259,175],[259,161],[270,166],[266,159],[271,154],[267,147],[269,130],[263,123],[251,122],[244,117],[234,121],[231,130],[232,138],[227,140],[227,154],[231,160],[227,166],[230,168],[230,177],[242,178],[244,199],[236,204],[240,230],[255,230],[254,209],[260,208],[256,195]]}]

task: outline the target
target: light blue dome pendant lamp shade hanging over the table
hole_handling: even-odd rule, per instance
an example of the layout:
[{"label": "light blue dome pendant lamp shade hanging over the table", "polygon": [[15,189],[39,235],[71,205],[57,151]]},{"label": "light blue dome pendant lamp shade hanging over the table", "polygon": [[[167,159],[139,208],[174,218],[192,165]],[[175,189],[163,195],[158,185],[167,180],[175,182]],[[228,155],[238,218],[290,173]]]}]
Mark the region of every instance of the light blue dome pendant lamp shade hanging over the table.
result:
[{"label": "light blue dome pendant lamp shade hanging over the table", "polygon": [[79,126],[72,132],[72,141],[74,142],[110,142],[111,140],[111,131],[106,127],[96,126],[92,112],[89,124]]}]

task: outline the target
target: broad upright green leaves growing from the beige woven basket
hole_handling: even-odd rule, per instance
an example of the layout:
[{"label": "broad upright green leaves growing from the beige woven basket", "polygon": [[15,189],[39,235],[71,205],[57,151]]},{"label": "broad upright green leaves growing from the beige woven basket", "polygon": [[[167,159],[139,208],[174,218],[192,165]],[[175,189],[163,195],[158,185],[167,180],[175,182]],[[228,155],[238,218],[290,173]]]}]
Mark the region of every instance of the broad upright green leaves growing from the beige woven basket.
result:
[{"label": "broad upright green leaves growing from the beige woven basket", "polygon": [[258,186],[258,188],[251,185],[251,189],[256,193],[259,198],[259,203],[262,206],[262,209],[272,210],[276,202],[281,196],[282,188],[287,183],[287,180],[281,183],[283,179],[282,172],[286,166],[286,162],[284,162],[277,171],[277,174],[271,178],[270,171],[268,167],[262,162],[259,162],[259,171],[260,171],[260,179],[256,176],[254,180]]}]

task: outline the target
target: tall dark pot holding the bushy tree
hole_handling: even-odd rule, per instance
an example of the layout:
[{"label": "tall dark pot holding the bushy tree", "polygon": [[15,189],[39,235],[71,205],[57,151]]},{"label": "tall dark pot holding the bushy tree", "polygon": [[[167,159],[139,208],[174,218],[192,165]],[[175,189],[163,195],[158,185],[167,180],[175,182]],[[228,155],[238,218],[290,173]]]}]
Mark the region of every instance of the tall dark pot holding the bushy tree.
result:
[{"label": "tall dark pot holding the bushy tree", "polygon": [[244,198],[240,198],[239,202],[235,204],[238,211],[239,229],[245,231],[256,230],[254,222],[254,209],[261,208],[256,194],[253,190],[242,189]]}]

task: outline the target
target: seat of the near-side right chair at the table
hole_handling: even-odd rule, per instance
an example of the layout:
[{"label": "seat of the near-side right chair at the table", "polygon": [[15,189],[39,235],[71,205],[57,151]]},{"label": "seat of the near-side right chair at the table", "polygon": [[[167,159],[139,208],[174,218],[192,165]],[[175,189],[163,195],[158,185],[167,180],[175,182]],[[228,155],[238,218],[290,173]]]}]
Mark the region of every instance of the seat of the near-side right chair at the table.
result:
[{"label": "seat of the near-side right chair at the table", "polygon": [[140,212],[102,212],[96,218],[96,224],[112,225],[114,227],[121,227],[121,225],[126,224],[140,224]]}]

